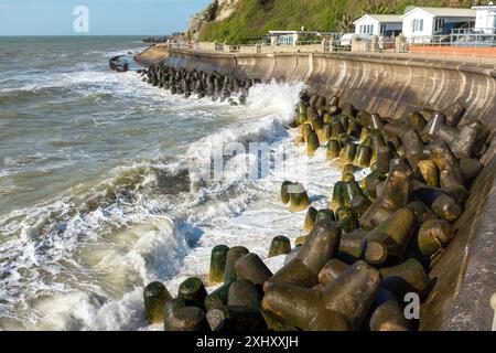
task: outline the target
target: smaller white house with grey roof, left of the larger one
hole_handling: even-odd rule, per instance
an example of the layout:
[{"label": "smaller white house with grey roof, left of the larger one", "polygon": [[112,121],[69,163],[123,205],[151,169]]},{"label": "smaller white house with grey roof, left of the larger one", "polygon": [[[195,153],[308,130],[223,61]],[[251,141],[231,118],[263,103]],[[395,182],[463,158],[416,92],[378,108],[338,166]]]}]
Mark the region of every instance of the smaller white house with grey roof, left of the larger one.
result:
[{"label": "smaller white house with grey roof, left of the larger one", "polygon": [[353,23],[356,34],[396,36],[401,32],[402,21],[399,14],[364,14]]}]

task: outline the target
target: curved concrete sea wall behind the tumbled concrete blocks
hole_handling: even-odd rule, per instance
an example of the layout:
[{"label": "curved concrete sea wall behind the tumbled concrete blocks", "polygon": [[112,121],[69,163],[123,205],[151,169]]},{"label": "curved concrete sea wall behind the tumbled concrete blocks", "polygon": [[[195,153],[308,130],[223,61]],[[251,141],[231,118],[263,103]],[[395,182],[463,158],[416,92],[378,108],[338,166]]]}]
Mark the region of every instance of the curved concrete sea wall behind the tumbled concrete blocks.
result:
[{"label": "curved concrete sea wall behind the tumbled concrete blocks", "polygon": [[435,286],[422,306],[420,329],[490,329],[494,312],[489,298],[496,291],[494,66],[325,53],[217,54],[165,49],[158,61],[158,49],[150,51],[140,54],[138,62],[165,62],[174,67],[218,71],[263,82],[305,82],[311,93],[338,95],[358,109],[390,118],[419,108],[444,110],[454,103],[464,106],[464,119],[481,121],[489,132],[482,160],[485,169],[455,225],[459,235],[434,263],[431,277]]}]

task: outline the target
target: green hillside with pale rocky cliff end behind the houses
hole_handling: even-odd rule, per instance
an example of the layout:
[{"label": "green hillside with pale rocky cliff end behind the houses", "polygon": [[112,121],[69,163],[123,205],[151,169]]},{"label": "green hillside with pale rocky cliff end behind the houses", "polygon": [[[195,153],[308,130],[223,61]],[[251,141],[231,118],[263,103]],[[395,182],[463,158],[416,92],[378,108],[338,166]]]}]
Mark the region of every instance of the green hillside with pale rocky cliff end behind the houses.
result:
[{"label": "green hillside with pale rocky cliff end behind the houses", "polygon": [[343,31],[363,13],[403,13],[408,6],[466,7],[474,0],[214,0],[192,21],[201,41],[256,42],[270,30]]}]

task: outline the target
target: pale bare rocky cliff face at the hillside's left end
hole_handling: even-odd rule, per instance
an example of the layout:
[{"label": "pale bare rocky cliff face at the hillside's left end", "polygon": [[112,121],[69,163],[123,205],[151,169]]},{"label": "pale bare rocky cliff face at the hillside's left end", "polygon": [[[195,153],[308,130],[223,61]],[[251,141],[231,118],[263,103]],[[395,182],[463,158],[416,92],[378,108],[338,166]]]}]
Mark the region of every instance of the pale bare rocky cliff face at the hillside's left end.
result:
[{"label": "pale bare rocky cliff face at the hillside's left end", "polygon": [[206,9],[193,17],[190,23],[190,34],[194,40],[198,40],[205,24],[229,18],[233,14],[236,4],[240,1],[241,0],[213,0]]}]

